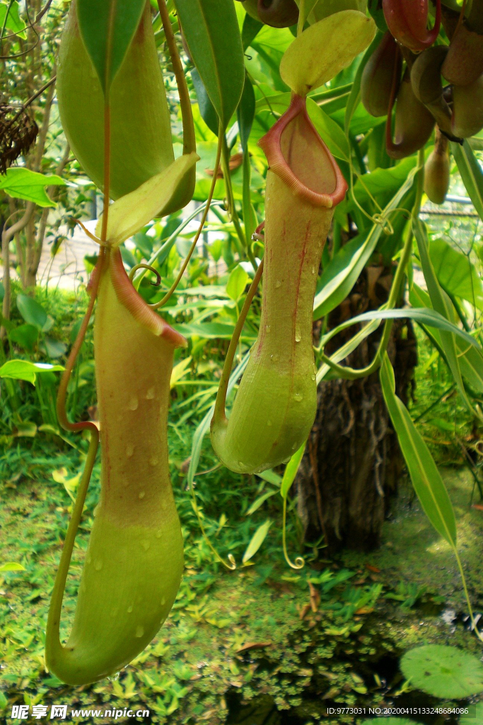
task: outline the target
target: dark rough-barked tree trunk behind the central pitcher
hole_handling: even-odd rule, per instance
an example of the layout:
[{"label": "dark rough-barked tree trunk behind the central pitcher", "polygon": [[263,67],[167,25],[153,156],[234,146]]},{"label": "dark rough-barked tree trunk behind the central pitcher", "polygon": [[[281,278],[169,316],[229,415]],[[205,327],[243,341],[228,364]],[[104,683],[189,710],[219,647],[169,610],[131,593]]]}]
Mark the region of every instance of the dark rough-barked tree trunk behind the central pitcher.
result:
[{"label": "dark rough-barked tree trunk behind the central pitcher", "polygon": [[[350,297],[329,315],[328,328],[380,307],[387,300],[391,281],[391,270],[364,270]],[[327,355],[358,329],[360,326],[353,326],[332,339]],[[349,355],[345,364],[356,369],[368,365],[381,334],[382,325]],[[407,404],[417,363],[410,320],[394,321],[387,352],[394,367],[396,394]],[[297,477],[298,513],[306,542],[322,538],[328,553],[342,547],[376,547],[390,497],[397,492],[402,464],[379,372],[355,381],[322,381],[314,428]]]}]

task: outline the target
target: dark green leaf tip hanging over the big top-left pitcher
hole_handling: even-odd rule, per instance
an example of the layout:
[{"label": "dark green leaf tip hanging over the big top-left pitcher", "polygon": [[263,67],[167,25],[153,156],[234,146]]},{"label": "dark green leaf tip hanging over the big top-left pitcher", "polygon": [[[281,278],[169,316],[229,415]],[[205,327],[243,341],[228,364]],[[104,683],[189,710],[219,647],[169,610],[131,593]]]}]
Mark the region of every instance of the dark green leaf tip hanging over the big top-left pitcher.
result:
[{"label": "dark green leaf tip hanging over the big top-left pitcher", "polygon": [[138,28],[145,0],[77,0],[77,18],[104,95]]}]

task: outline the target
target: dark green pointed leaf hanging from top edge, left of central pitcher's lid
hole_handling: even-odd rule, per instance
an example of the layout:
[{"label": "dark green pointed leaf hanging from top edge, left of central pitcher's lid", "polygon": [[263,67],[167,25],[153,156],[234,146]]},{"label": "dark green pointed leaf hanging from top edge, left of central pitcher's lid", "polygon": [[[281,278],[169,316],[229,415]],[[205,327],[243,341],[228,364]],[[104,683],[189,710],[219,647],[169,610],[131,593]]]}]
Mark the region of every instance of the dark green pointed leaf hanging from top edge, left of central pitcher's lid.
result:
[{"label": "dark green pointed leaf hanging from top edge, left of central pitcher's lid", "polygon": [[190,55],[223,128],[227,128],[245,82],[235,6],[231,0],[175,0],[175,6]]}]

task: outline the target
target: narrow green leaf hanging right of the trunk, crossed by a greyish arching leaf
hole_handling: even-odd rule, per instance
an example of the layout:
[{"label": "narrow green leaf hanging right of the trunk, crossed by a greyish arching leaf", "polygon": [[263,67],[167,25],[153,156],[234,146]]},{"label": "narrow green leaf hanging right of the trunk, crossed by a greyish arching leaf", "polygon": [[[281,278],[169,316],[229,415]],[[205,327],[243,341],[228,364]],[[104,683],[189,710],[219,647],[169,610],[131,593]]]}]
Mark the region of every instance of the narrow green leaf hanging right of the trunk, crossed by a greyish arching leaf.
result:
[{"label": "narrow green leaf hanging right of the trunk, crossed by a greyish arching leaf", "polygon": [[[432,307],[434,308],[435,312],[439,312],[442,317],[450,320],[450,302],[448,299],[445,299],[446,296],[440,288],[440,284],[438,283],[436,274],[434,273],[431,259],[429,258],[426,225],[424,225],[421,220],[414,219],[413,232],[414,236],[416,237],[416,242],[418,244],[421,267],[423,269],[424,279],[427,283]],[[464,389],[463,385],[463,379],[461,378],[461,370],[458,362],[458,354],[456,350],[454,334],[445,328],[441,328],[440,335],[442,341],[442,348],[445,352],[446,359],[448,360],[448,365],[450,366],[450,370],[453,375],[455,384],[456,386],[458,386],[458,391],[460,392],[466,407],[468,407],[468,409],[471,410],[471,412],[473,413],[471,402],[469,401],[468,395],[466,394],[466,390]],[[474,340],[472,338],[471,340],[472,344],[474,344]]]}]

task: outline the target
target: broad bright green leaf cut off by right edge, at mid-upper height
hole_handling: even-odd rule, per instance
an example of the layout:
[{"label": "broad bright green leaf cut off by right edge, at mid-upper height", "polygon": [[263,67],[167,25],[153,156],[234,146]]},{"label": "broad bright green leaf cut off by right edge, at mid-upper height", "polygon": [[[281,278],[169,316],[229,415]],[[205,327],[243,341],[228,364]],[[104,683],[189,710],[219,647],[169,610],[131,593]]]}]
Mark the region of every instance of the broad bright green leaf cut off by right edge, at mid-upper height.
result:
[{"label": "broad bright green leaf cut off by right edge, at mid-upper height", "polygon": [[471,302],[483,309],[483,283],[469,257],[452,247],[445,239],[429,242],[429,259],[437,280],[448,294]]}]

